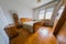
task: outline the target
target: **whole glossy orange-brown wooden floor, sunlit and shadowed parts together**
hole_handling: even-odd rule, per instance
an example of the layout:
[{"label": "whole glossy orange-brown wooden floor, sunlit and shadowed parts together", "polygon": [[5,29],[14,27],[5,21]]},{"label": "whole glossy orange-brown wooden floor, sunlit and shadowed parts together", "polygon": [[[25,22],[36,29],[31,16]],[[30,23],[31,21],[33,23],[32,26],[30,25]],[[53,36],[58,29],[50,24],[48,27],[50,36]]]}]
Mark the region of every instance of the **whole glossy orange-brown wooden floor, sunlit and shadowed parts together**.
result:
[{"label": "whole glossy orange-brown wooden floor, sunlit and shadowed parts together", "polygon": [[30,34],[25,30],[20,30],[20,35],[11,40],[11,44],[57,44],[51,28],[42,28],[37,32]]}]

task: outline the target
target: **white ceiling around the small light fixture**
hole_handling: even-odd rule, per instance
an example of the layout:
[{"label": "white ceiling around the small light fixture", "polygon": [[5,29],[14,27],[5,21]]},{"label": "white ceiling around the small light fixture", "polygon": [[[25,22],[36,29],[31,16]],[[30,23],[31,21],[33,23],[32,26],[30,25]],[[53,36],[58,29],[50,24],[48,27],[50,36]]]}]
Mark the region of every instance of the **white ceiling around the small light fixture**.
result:
[{"label": "white ceiling around the small light fixture", "polygon": [[36,8],[40,7],[42,4],[45,4],[47,2],[51,2],[53,0],[41,0],[41,2],[37,2],[37,0],[18,0],[21,4],[24,4],[29,8]]}]

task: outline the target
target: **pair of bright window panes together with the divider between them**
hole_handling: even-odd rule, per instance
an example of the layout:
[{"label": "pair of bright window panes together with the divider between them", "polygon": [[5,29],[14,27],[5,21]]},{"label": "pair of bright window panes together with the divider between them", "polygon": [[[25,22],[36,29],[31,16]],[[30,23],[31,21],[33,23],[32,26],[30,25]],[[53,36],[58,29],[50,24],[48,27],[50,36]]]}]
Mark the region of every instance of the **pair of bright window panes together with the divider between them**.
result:
[{"label": "pair of bright window panes together with the divider between them", "polygon": [[40,10],[38,19],[51,20],[53,11],[54,11],[54,8],[47,8],[47,9]]}]

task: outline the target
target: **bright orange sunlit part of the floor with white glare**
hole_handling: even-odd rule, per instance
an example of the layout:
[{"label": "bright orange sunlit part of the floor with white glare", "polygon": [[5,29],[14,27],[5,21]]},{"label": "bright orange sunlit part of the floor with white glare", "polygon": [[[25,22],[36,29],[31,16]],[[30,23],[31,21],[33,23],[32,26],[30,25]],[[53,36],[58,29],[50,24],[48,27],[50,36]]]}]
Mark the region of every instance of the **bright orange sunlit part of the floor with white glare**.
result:
[{"label": "bright orange sunlit part of the floor with white glare", "polygon": [[[44,31],[47,31],[47,33],[44,33]],[[25,44],[57,44],[57,42],[52,34],[51,28],[43,28],[30,36]]]}]

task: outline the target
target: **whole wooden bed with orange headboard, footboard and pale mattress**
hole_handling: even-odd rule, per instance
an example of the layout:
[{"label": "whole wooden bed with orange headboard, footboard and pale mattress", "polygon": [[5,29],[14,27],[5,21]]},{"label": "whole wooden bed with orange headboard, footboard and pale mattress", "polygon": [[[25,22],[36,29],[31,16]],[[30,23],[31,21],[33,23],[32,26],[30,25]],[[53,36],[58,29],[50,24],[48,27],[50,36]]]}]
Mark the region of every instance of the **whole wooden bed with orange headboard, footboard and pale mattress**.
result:
[{"label": "whole wooden bed with orange headboard, footboard and pale mattress", "polygon": [[36,32],[37,29],[40,26],[42,26],[41,22],[33,21],[32,19],[22,18],[22,19],[20,19],[20,21],[21,21],[21,24],[23,25],[23,28],[26,29],[31,33]]}]

